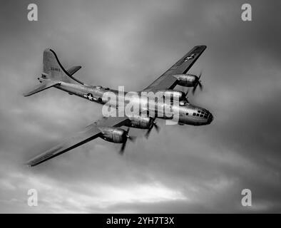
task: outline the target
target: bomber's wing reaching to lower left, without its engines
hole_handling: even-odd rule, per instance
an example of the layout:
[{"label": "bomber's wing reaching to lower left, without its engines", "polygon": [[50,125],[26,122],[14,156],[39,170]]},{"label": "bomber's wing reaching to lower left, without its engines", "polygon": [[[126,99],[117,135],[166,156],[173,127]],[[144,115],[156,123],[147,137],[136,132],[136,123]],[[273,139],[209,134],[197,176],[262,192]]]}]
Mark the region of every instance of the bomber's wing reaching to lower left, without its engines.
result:
[{"label": "bomber's wing reaching to lower left, without its engines", "polygon": [[71,138],[64,140],[63,142],[56,145],[55,147],[52,147],[50,150],[47,150],[46,152],[43,152],[40,155],[37,155],[36,157],[32,158],[31,160],[26,162],[26,165],[28,166],[39,165],[40,163],[45,162],[46,160],[61,155],[63,152],[72,150],[73,148],[78,147],[79,145],[82,145],[95,138],[98,138],[101,135],[101,130],[98,129],[99,127],[120,127],[124,123],[126,123],[127,119],[128,118],[126,117],[102,118],[101,120],[98,120],[92,123],[91,125],[88,125],[80,133],[73,135]]}]

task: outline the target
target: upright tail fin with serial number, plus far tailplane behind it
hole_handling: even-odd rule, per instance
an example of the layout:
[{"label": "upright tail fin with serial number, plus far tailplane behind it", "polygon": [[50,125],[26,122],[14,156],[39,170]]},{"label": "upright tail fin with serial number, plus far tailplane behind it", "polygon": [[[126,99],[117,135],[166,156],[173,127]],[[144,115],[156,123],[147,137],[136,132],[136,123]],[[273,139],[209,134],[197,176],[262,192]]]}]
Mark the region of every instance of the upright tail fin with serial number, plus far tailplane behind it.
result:
[{"label": "upright tail fin with serial number, plus far tailplane behind it", "polygon": [[71,83],[71,79],[85,85],[83,82],[78,81],[72,75],[76,73],[81,68],[81,66],[74,66],[66,71],[58,60],[56,53],[50,49],[45,49],[43,53],[43,73],[48,75],[48,79],[51,81],[63,81],[66,83]]}]

